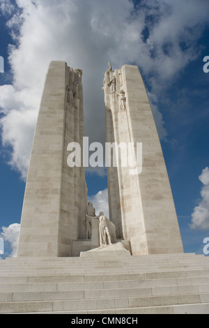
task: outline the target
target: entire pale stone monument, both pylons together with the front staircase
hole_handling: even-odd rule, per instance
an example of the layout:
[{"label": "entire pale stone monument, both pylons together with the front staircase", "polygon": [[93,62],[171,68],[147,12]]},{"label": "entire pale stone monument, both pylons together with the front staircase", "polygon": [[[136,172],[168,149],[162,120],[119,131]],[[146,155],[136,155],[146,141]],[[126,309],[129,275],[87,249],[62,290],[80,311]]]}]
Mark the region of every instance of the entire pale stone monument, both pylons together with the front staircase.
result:
[{"label": "entire pale stone monument, both pylons together with the front staircase", "polygon": [[[118,323],[124,323],[123,314],[130,314],[127,323],[136,323],[133,313],[208,314],[209,263],[204,255],[183,253],[139,69],[125,65],[113,71],[109,64],[103,90],[112,164],[117,158],[117,165],[107,158],[111,221],[88,201],[84,167],[67,165],[69,143],[85,144],[82,70],[52,61],[33,140],[17,258],[0,261],[0,313],[104,319],[109,314]],[[128,154],[124,148],[116,156],[114,144],[130,141]],[[122,165],[127,157],[132,170]]]}]

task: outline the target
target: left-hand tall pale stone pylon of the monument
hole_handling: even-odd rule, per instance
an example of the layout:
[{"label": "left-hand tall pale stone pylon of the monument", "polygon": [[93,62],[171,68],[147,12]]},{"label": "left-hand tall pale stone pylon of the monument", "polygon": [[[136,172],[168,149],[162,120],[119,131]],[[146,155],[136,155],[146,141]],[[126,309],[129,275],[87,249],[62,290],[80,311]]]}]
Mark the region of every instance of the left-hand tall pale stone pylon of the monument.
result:
[{"label": "left-hand tall pale stone pylon of the monument", "polygon": [[82,70],[52,61],[33,140],[17,257],[72,256],[84,237],[84,167],[68,167],[67,147],[84,136]]}]

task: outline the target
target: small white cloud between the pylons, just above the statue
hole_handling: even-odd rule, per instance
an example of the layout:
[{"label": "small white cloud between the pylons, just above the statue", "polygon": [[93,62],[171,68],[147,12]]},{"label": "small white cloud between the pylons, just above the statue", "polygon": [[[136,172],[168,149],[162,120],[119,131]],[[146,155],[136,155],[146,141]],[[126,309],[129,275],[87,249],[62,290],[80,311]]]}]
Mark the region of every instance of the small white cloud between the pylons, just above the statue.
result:
[{"label": "small white cloud between the pylons, just above the statue", "polygon": [[108,204],[108,191],[104,189],[99,191],[96,195],[88,197],[88,202],[92,202],[95,208],[95,214],[100,214],[100,211],[104,212],[104,215],[109,218],[109,204]]}]

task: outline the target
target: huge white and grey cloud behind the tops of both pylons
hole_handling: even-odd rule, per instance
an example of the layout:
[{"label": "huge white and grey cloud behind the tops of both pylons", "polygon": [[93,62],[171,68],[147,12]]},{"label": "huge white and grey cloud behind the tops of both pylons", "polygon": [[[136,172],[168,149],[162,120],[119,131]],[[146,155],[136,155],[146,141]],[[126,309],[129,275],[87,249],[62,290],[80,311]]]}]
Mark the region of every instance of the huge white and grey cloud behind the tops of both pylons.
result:
[{"label": "huge white and grey cloud behind the tops of both pylons", "polygon": [[[114,69],[137,64],[157,96],[196,58],[207,8],[204,0],[142,0],[137,7],[129,0],[1,0],[15,40],[9,47],[13,84],[0,87],[2,139],[12,147],[11,165],[26,177],[50,61],[63,60],[84,71],[85,135],[104,143],[101,87],[107,63]],[[164,138],[156,102],[153,112]]]}]

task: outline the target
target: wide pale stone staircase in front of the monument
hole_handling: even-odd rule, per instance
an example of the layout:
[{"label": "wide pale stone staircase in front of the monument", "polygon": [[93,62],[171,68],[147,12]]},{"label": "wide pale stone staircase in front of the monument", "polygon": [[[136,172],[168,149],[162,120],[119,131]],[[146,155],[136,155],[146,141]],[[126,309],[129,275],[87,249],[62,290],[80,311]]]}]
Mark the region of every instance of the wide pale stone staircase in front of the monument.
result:
[{"label": "wide pale stone staircase in front of the monument", "polygon": [[208,314],[209,258],[7,258],[0,313]]}]

